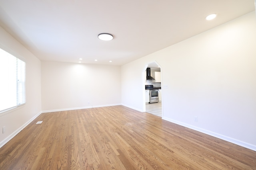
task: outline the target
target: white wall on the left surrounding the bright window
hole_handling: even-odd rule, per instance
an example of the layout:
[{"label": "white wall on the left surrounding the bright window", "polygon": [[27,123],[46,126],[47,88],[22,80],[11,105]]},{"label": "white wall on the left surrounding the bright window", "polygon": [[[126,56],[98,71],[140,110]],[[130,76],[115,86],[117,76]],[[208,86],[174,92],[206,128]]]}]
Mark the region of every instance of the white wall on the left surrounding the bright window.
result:
[{"label": "white wall on the left surrounding the bright window", "polygon": [[[12,55],[20,55],[26,62],[26,104],[0,116],[0,147],[41,113],[40,60],[0,27],[0,46]],[[2,82],[0,82],[2,83]],[[2,127],[6,132],[2,133]]]}]

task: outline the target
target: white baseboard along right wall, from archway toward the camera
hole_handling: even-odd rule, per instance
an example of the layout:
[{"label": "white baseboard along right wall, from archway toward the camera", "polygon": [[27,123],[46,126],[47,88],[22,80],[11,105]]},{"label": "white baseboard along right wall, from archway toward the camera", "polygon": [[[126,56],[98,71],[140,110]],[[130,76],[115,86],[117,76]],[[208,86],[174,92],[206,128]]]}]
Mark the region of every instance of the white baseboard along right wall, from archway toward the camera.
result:
[{"label": "white baseboard along right wall, from archway toward the camera", "polygon": [[218,133],[215,133],[215,132],[212,132],[212,131],[208,131],[206,129],[202,129],[202,128],[199,128],[199,127],[195,127],[195,126],[192,126],[192,125],[189,125],[189,124],[186,124],[186,123],[182,123],[180,121],[176,121],[176,120],[173,120],[173,119],[169,119],[167,117],[162,117],[162,119],[166,120],[166,121],[170,121],[172,123],[175,123],[175,124],[178,124],[178,125],[181,125],[181,126],[184,126],[184,127],[188,127],[190,129],[193,129],[195,131],[199,131],[199,132],[202,132],[202,133],[205,133],[207,135],[211,135],[213,137],[216,137],[216,138],[219,138],[219,139],[222,139],[224,141],[228,141],[230,143],[234,143],[236,145],[239,145],[239,146],[242,146],[242,147],[245,147],[247,149],[251,149],[251,150],[254,150],[256,151],[256,146],[255,145],[252,145],[250,143],[246,143],[246,142],[243,142],[243,141],[239,141],[237,139],[233,139],[231,137],[227,137],[227,136],[224,136],[224,135],[221,135],[221,134],[218,134]]}]

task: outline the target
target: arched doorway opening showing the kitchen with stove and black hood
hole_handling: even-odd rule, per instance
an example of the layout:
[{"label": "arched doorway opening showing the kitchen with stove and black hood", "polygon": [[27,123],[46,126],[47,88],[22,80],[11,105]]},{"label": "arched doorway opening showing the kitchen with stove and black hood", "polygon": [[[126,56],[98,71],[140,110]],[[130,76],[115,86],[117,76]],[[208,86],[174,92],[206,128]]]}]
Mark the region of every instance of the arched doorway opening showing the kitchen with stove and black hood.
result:
[{"label": "arched doorway opening showing the kitchen with stove and black hood", "polygon": [[[150,68],[150,69],[148,69]],[[145,102],[144,102],[144,111],[159,117],[162,117],[162,85],[161,85],[161,66],[156,62],[149,63],[145,66],[144,70],[144,94],[145,94]],[[152,102],[154,100],[150,100],[150,95],[156,94],[155,91],[158,92],[158,100]],[[144,96],[144,95],[143,95]]]}]

